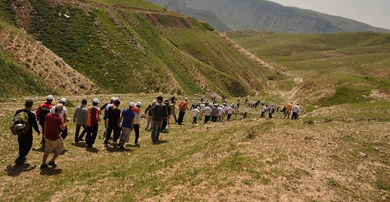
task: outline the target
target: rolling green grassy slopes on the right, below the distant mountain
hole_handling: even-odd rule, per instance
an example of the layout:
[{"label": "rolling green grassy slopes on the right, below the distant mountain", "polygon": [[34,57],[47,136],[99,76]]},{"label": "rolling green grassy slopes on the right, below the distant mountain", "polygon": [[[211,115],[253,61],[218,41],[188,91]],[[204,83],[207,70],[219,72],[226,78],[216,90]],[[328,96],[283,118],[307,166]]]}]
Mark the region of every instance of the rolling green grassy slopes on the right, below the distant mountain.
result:
[{"label": "rolling green grassy slopes on the right, below the distant mountain", "polygon": [[[235,41],[265,60],[303,77],[304,85],[311,89],[304,95],[306,97],[316,95],[320,90],[334,90],[331,97],[316,99],[322,106],[370,101],[361,99],[362,95],[370,95],[377,88],[390,88],[389,34],[265,34]],[[284,82],[280,86],[284,90],[294,86]]]}]

